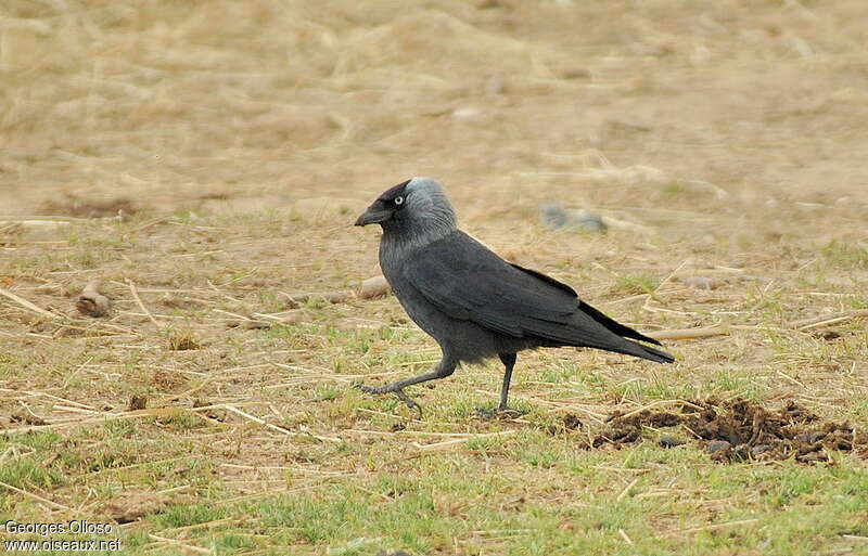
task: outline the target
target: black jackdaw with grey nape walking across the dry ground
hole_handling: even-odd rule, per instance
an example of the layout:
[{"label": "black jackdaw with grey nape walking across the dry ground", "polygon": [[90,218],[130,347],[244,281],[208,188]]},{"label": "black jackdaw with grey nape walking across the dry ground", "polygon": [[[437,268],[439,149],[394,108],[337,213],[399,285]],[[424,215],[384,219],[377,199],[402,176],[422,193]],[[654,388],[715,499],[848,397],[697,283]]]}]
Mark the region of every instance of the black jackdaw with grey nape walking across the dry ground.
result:
[{"label": "black jackdaw with grey nape walking across the dry ground", "polygon": [[359,385],[366,392],[394,392],[421,410],[406,387],[445,378],[458,363],[498,355],[506,373],[497,410],[506,412],[515,354],[525,349],[577,346],[658,363],[675,360],[630,341],[660,345],[580,300],[566,284],[507,262],[460,231],[446,192],[430,178],[395,185],[356,220],[374,223],[383,228],[383,274],[407,314],[437,340],[443,359],[430,373],[380,387]]}]

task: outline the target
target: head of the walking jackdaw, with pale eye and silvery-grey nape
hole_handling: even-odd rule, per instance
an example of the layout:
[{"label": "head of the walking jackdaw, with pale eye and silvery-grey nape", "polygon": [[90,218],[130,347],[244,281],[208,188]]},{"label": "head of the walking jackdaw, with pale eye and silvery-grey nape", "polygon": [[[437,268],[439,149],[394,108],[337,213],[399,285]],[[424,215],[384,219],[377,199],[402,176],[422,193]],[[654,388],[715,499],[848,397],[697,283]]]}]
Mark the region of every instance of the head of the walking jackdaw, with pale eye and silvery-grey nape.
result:
[{"label": "head of the walking jackdaw, with pale eye and silvery-grey nape", "polygon": [[385,191],[356,220],[356,225],[380,224],[390,233],[449,233],[457,228],[446,191],[431,178],[412,178]]}]

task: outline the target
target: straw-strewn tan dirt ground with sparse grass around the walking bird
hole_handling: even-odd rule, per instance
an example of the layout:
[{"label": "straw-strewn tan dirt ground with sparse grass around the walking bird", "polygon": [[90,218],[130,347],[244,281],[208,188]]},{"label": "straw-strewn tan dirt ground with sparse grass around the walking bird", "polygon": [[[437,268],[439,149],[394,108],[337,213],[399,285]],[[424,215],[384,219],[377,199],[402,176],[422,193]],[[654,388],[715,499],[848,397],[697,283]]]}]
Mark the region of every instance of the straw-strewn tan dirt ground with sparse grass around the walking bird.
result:
[{"label": "straw-strewn tan dirt ground with sparse grass around the walking bird", "polygon": [[[783,506],[753,494],[727,506],[726,481],[701,490],[690,474],[746,484],[762,467],[792,484],[817,473],[844,489],[838,466],[865,479],[865,11],[861,0],[3,2],[0,288],[14,297],[0,297],[0,463],[18,470],[0,482],[29,494],[0,491],[16,493],[0,513],[115,519],[136,554],[864,554],[864,501],[834,506],[851,490],[787,497],[806,520],[834,507],[828,519],[844,523],[802,538],[776,519]],[[513,391],[532,412],[514,422],[473,417],[497,395],[495,365],[418,388],[423,421],[354,392],[352,382],[424,368],[436,347],[394,297],[291,298],[379,273],[379,232],[352,223],[412,176],[443,181],[462,227],[499,254],[616,319],[722,334],[664,340],[671,368],[523,355]],[[548,230],[546,203],[601,215],[609,232]],[[113,301],[95,319],[75,307],[94,280]],[[320,526],[299,532],[268,521],[270,506],[250,526],[258,509],[238,505],[328,484],[387,516],[400,492],[391,477],[427,484],[441,477],[432,462],[452,456],[476,474],[424,487],[443,489],[436,514],[459,515],[459,490],[494,480],[494,458],[525,490],[474,495],[515,522],[398,535],[384,521],[369,534],[344,514],[330,529],[322,508],[339,502],[310,494],[292,512]],[[648,458],[640,482],[622,480],[633,457]],[[176,467],[196,458],[208,466]],[[138,475],[149,461],[166,468]],[[586,490],[562,492],[564,476]],[[633,500],[642,481],[689,495],[658,512]],[[614,500],[636,519],[558,514],[540,522],[546,538],[496,534],[525,531],[539,515],[525,504],[559,495]],[[170,502],[212,513],[163,512]],[[761,521],[707,533],[726,519]],[[567,522],[599,544],[570,544]],[[200,523],[216,525],[189,529]],[[224,527],[243,542],[196,536]],[[280,541],[263,540],[280,527]],[[362,534],[386,540],[353,545]]]}]

